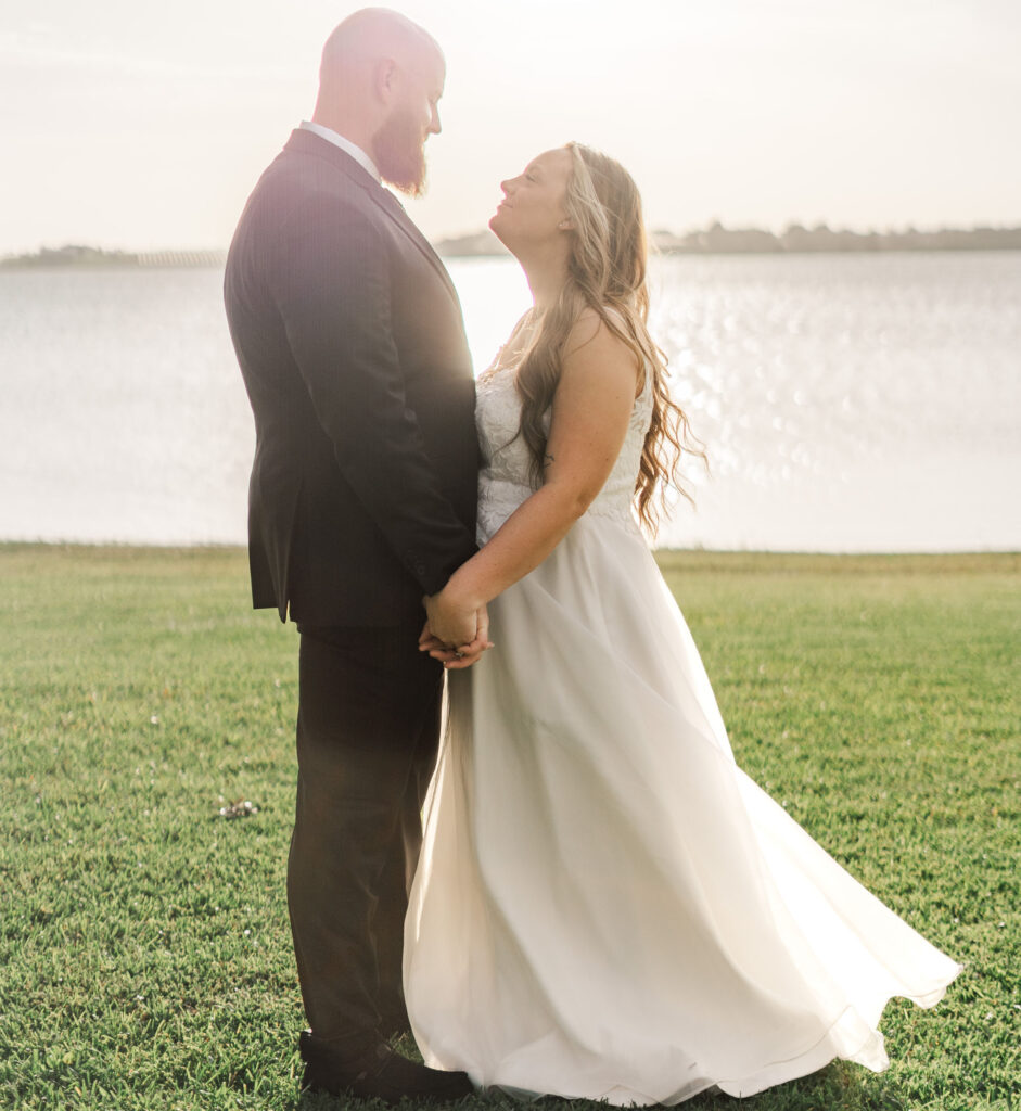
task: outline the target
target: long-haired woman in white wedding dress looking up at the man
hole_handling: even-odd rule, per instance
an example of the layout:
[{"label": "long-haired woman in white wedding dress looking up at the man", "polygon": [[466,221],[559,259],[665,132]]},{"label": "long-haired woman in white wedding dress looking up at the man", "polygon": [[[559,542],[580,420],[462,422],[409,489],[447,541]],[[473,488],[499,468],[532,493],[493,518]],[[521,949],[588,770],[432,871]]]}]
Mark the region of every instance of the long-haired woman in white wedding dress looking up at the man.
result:
[{"label": "long-haired woman in white wedding dress looking up at the man", "polygon": [[[406,922],[424,1060],[615,1104],[883,1069],[887,1001],[960,967],[734,763],[640,529],[689,440],[634,183],[570,143],[502,188],[534,307],[479,381],[481,550],[427,600],[451,673]],[[487,603],[496,648],[451,648]]]}]

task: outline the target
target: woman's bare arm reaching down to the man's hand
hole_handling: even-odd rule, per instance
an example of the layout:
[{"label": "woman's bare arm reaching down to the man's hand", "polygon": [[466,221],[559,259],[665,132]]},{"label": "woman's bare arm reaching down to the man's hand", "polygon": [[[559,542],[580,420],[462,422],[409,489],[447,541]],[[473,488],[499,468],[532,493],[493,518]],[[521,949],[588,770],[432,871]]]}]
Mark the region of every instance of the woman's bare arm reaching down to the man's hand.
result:
[{"label": "woman's bare arm reaching down to the man's hand", "polygon": [[[468,614],[550,554],[602,489],[620,454],[634,406],[639,368],[633,352],[591,310],[575,324],[568,352],[553,398],[542,487],[439,593],[426,599],[429,632],[447,644],[457,643],[452,638]],[[423,647],[430,647],[424,634]]]}]

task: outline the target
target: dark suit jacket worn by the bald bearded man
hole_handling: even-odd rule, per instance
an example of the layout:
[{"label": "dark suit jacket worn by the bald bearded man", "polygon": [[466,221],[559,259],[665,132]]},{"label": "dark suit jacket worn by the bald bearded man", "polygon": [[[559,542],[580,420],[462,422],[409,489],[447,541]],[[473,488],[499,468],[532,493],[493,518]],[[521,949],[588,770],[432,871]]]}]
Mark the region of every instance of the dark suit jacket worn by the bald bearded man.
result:
[{"label": "dark suit jacket worn by the bald bearded man", "polygon": [[424,618],[476,550],[474,379],[443,264],[388,190],[298,130],[241,216],[224,300],[256,416],[254,605]]}]

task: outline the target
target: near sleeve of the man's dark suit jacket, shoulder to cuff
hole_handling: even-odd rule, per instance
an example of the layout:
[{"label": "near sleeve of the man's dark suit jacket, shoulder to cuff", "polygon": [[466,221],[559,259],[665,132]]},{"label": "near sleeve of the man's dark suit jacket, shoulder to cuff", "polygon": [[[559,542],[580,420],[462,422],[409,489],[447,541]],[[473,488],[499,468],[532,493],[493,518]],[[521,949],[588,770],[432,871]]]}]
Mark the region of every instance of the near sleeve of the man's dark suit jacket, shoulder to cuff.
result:
[{"label": "near sleeve of the man's dark suit jacket, shoulder to cuff", "polygon": [[427,594],[474,551],[443,496],[404,396],[380,231],[333,198],[281,229],[270,268],[288,342],[340,471]]}]

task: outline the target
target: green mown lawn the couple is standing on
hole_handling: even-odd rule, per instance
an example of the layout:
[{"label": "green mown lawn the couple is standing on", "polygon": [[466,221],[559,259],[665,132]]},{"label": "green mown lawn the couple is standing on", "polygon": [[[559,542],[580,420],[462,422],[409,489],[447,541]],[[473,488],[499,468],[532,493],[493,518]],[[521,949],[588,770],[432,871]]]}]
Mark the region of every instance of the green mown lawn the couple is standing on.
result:
[{"label": "green mown lawn the couple is standing on", "polygon": [[[661,564],[740,763],[968,965],[891,1004],[887,1073],[740,1105],[1021,1109],[1021,559]],[[243,553],[0,546],[0,1107],[336,1107],[297,1091],[297,635]]]}]

